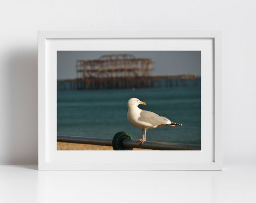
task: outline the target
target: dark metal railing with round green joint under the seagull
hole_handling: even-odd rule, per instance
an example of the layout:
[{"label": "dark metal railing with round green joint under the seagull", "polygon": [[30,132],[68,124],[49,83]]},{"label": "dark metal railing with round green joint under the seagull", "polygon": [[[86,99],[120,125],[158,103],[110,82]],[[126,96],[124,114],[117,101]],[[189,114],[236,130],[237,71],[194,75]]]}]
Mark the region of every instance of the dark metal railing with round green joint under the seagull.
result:
[{"label": "dark metal railing with round green joint under the seagull", "polygon": [[124,131],[116,133],[113,139],[57,135],[57,142],[112,146],[114,150],[133,150],[133,148],[153,150],[201,150],[201,145],[195,144],[145,141],[140,145],[139,142],[133,140],[131,134]]}]

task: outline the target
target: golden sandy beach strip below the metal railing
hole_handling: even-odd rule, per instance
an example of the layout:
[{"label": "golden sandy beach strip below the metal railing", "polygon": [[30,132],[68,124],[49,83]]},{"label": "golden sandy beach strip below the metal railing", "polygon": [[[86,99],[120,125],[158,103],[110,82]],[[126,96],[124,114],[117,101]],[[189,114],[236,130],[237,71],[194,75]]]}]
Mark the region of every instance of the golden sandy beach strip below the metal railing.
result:
[{"label": "golden sandy beach strip below the metal railing", "polygon": [[[111,146],[57,142],[57,150],[113,150]],[[149,150],[134,148],[133,150]]]}]

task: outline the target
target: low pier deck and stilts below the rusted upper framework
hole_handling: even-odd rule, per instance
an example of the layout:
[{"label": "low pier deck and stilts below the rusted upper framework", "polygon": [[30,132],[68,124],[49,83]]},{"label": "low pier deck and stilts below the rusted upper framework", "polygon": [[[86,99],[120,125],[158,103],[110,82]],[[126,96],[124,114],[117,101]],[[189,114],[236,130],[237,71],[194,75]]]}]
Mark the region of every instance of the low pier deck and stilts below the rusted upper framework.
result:
[{"label": "low pier deck and stilts below the rusted upper framework", "polygon": [[123,78],[77,78],[57,80],[57,90],[103,90],[198,85],[197,75],[170,75]]}]

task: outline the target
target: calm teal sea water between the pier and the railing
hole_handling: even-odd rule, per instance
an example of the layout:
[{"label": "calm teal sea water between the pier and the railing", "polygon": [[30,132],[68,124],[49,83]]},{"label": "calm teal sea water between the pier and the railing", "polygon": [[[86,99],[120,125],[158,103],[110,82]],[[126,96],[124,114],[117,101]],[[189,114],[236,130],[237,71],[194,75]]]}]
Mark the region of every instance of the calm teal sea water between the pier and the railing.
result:
[{"label": "calm teal sea water between the pier and the railing", "polygon": [[127,101],[146,102],[144,110],[182,123],[183,127],[160,127],[146,132],[147,141],[201,144],[201,86],[172,88],[58,91],[57,134],[113,138],[128,131],[142,139],[142,130],[127,119]]}]

